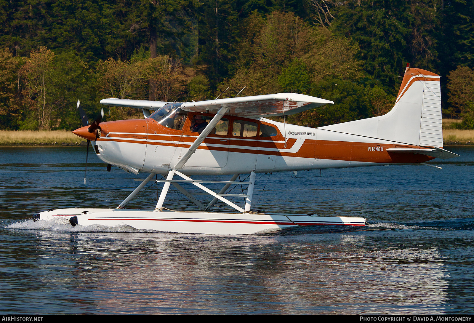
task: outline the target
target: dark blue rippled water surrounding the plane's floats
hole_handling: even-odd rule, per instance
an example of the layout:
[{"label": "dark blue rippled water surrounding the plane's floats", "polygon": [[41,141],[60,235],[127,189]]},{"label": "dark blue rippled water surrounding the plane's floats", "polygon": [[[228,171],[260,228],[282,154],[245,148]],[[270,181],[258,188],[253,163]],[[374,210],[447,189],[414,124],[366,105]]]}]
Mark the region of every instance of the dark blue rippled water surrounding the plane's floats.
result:
[{"label": "dark blue rippled water surrounding the plane's floats", "polygon": [[[323,170],[322,177],[319,171],[298,178],[257,174],[255,210],[363,216],[368,227],[210,236],[42,227],[29,220],[33,213],[116,207],[143,175],[108,173],[91,154],[84,186],[83,147],[0,148],[0,311],[472,313],[474,149],[448,149],[461,157],[431,162],[442,170],[405,165]],[[155,204],[151,186],[128,206]],[[192,205],[177,193],[164,204]]]}]

